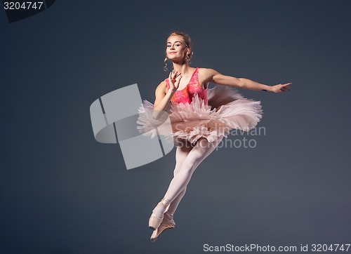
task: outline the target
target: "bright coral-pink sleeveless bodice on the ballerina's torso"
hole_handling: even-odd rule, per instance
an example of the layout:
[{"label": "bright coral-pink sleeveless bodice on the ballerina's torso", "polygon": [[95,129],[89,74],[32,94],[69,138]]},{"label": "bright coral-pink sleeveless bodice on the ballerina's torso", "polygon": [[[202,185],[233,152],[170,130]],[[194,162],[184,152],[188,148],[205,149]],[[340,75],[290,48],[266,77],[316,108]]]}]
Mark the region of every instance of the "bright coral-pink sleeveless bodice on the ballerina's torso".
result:
[{"label": "bright coral-pink sleeveless bodice on the ballerina's torso", "polygon": [[[169,89],[168,79],[165,79],[167,83],[167,88]],[[189,103],[192,102],[192,98],[195,94],[199,96],[200,99],[204,100],[205,105],[208,105],[208,93],[207,88],[202,88],[199,83],[199,68],[194,70],[189,83],[182,90],[177,90],[171,98],[172,103]]]}]

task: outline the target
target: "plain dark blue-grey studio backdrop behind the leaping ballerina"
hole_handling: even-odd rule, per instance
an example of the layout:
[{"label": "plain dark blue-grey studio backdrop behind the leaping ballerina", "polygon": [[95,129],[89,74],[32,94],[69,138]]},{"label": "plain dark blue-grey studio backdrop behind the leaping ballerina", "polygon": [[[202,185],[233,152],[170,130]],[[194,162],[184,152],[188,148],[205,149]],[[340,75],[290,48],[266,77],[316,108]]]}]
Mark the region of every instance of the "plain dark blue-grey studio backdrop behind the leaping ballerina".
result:
[{"label": "plain dark blue-grey studio backdrop behind the leaping ballerina", "polygon": [[[0,253],[202,253],[203,245],[351,243],[350,1],[56,1],[1,25]],[[152,243],[174,152],[126,171],[89,107],[138,83],[154,100],[166,37],[192,66],[274,85],[254,149],[195,171],[176,229]],[[127,105],[126,105],[127,107]],[[232,136],[230,140],[241,139]],[[350,250],[349,250],[350,251]]]}]

